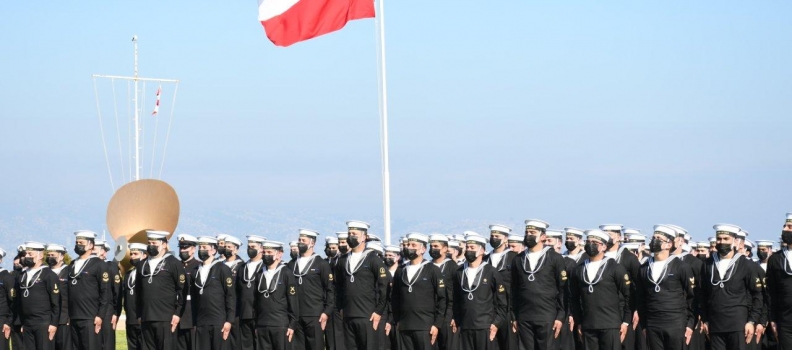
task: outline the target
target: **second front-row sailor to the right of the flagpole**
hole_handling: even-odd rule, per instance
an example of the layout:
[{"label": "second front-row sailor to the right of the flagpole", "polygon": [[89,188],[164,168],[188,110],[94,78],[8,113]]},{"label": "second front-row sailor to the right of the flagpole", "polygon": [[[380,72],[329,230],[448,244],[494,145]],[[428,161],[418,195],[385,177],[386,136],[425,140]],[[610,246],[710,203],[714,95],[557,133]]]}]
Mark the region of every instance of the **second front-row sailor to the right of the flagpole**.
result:
[{"label": "second front-row sailor to the right of the flagpole", "polygon": [[506,324],[506,286],[501,275],[483,261],[487,239],[465,236],[465,263],[454,273],[454,320],[462,350],[497,349],[498,325]]}]

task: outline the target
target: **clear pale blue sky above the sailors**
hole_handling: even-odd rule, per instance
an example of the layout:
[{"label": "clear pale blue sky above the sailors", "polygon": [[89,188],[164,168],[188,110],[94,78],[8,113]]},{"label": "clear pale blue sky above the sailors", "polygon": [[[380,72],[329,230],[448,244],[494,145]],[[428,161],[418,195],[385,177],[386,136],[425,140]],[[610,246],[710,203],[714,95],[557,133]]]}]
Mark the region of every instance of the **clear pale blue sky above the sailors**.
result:
[{"label": "clear pale blue sky above the sailors", "polygon": [[[386,6],[395,234],[536,217],[778,237],[792,3]],[[101,229],[90,75],[131,74],[133,34],[141,75],[182,80],[163,179],[185,211],[381,222],[375,22],[278,48],[256,15],[253,0],[0,3],[0,222],[88,205],[80,222]]]}]

